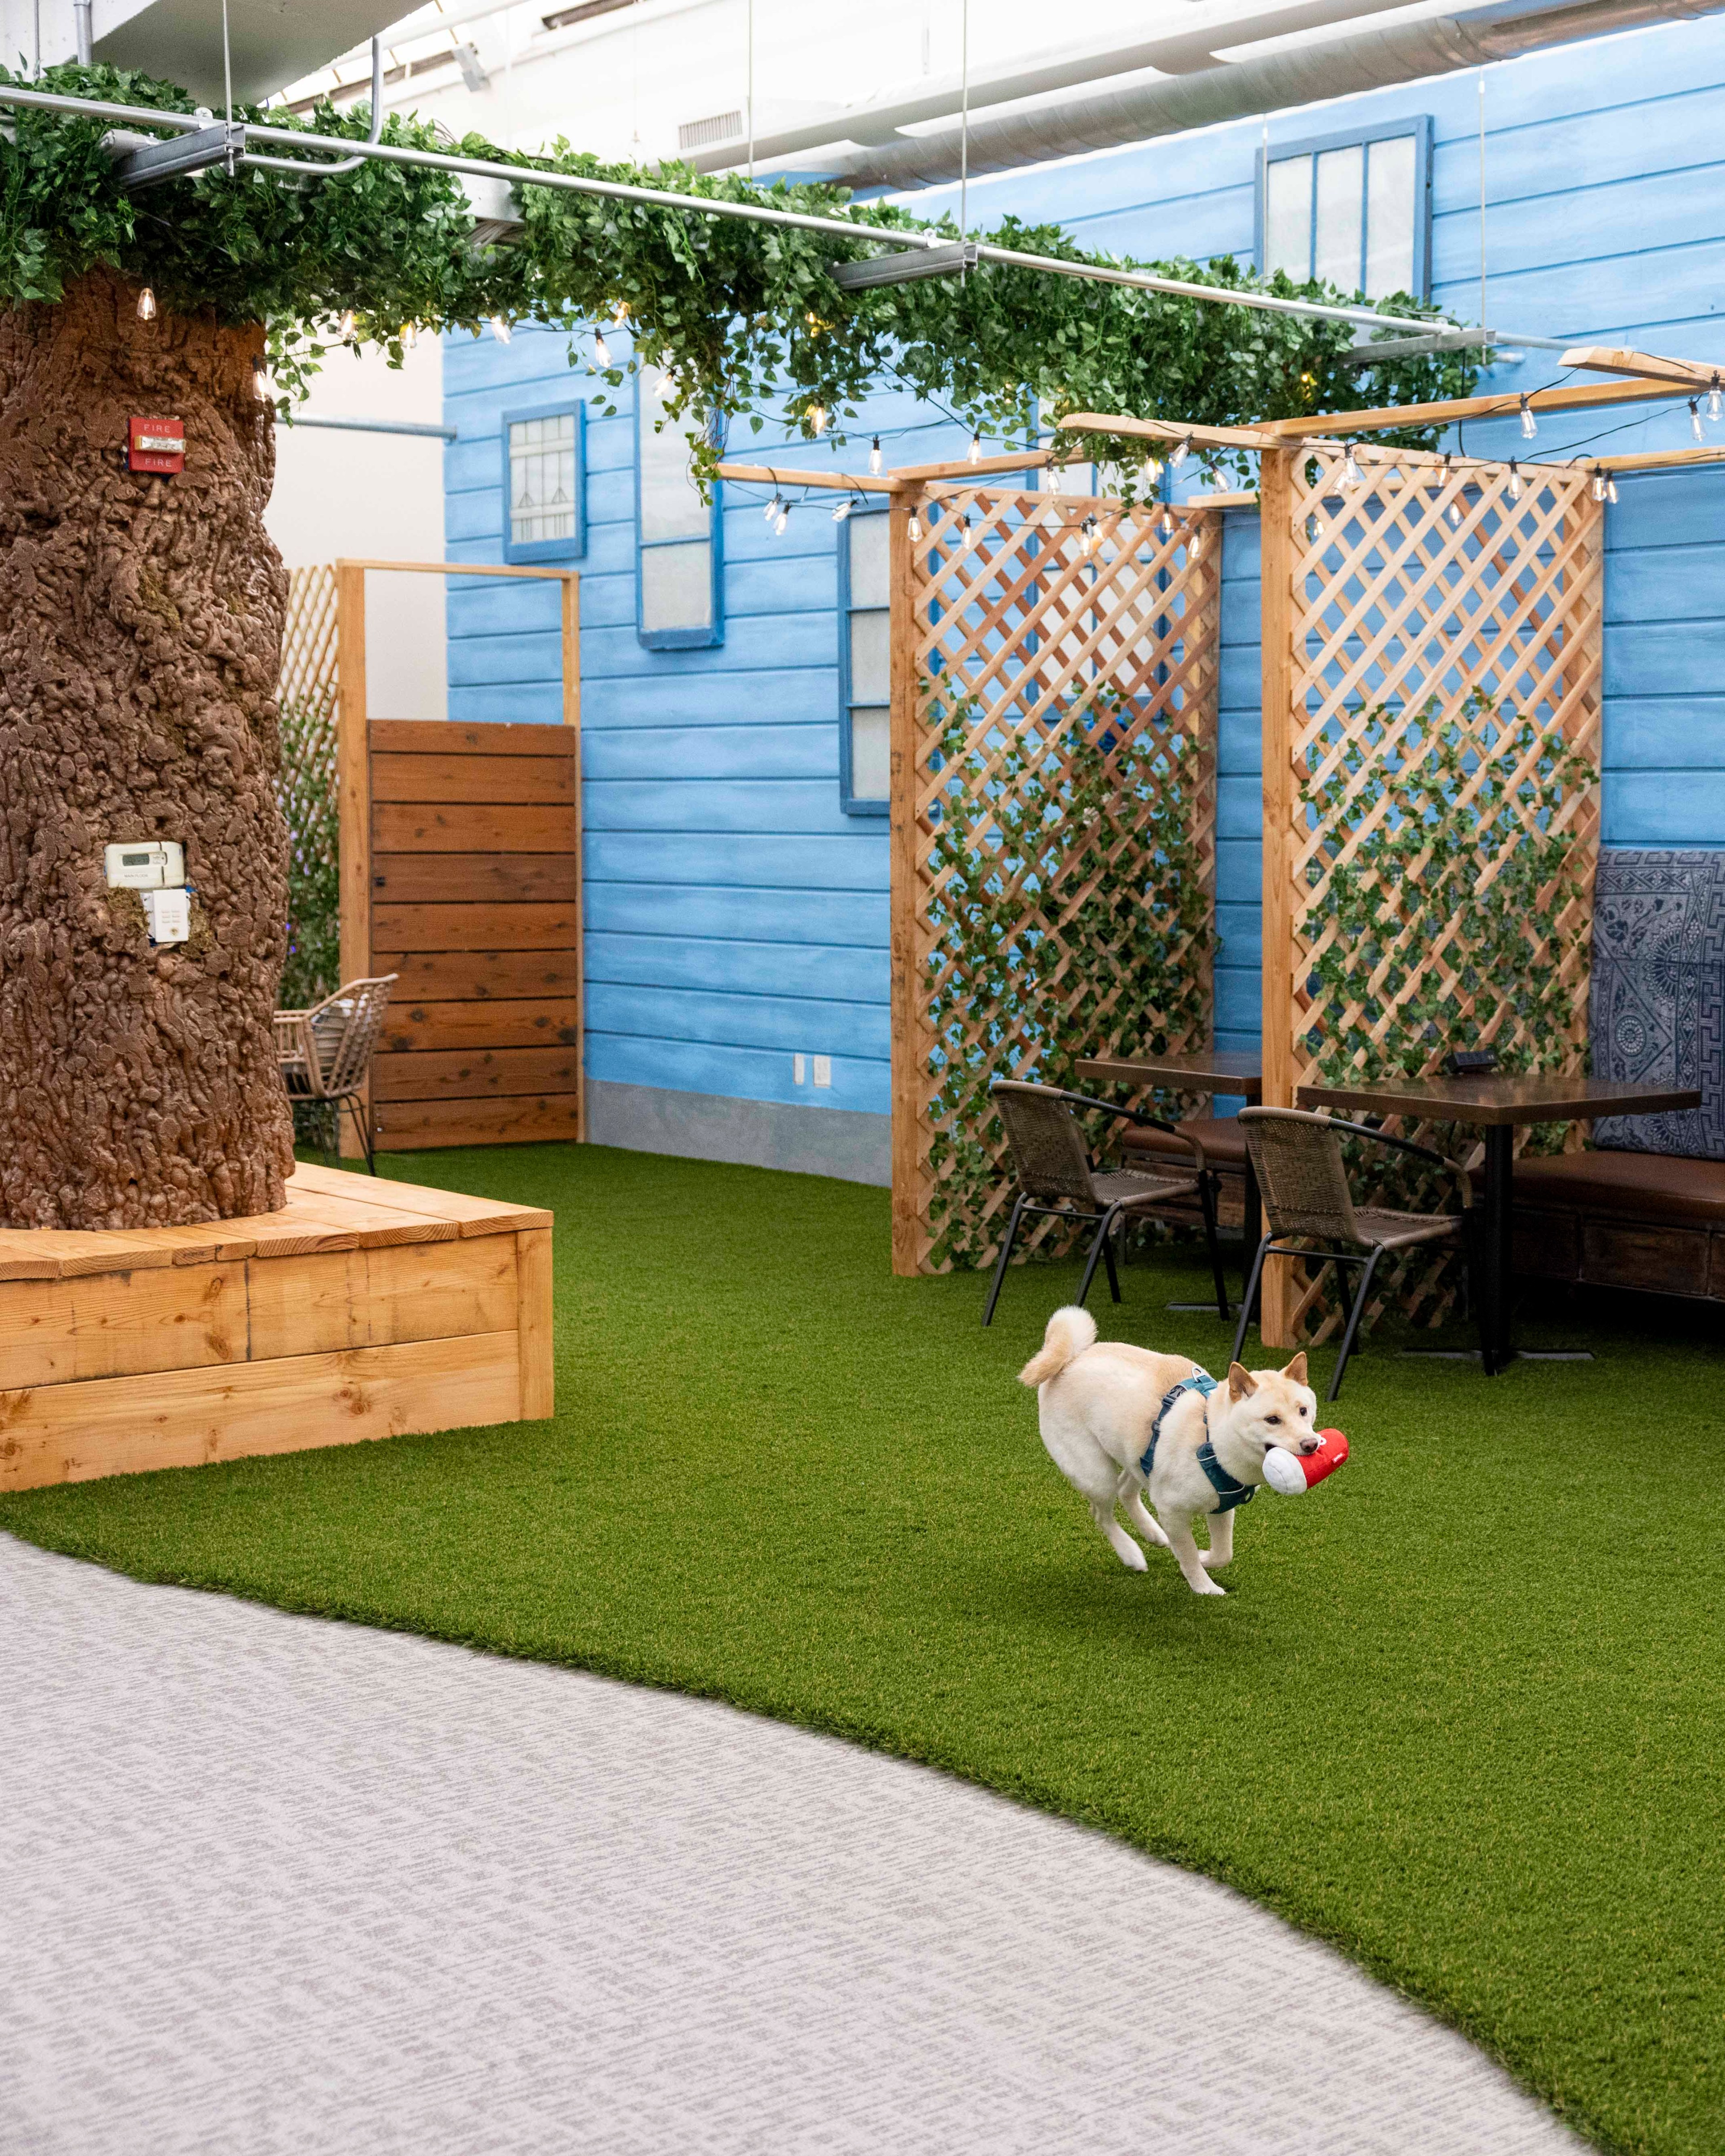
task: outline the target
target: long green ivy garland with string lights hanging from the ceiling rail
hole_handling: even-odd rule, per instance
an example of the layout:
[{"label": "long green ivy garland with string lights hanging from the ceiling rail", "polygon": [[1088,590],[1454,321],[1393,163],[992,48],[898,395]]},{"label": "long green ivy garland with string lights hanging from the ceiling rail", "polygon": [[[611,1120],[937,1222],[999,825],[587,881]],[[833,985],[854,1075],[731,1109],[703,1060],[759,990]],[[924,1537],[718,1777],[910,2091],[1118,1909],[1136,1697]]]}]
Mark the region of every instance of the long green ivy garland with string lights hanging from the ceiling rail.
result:
[{"label": "long green ivy garland with string lights hanging from the ceiling rail", "polygon": [[[26,78],[0,69],[0,80]],[[172,84],[112,67],[52,67],[30,86],[194,110]],[[1240,425],[1354,405],[1361,392],[1361,377],[1341,367],[1358,336],[1348,323],[1000,265],[962,280],[845,293],[826,265],[867,257],[862,241],[546,188],[515,190],[522,226],[513,237],[474,244],[457,175],[382,162],[330,181],[218,166],[127,196],[101,147],[106,123],[9,112],[11,140],[0,136],[0,300],[54,302],[106,263],[151,285],[170,310],[265,321],[272,369],[289,397],[302,395],[341,345],[375,343],[399,364],[403,341],[420,330],[479,334],[492,317],[569,330],[571,364],[589,364],[591,347],[574,336],[582,323],[627,319],[634,360],[662,371],[668,412],[694,423],[703,466],[716,461],[727,433],[735,446],[740,425],[813,438],[830,423],[837,440],[882,377],[1007,440],[1061,412]],[[259,106],[235,108],[235,116],[347,140],[362,140],[369,127],[367,108],[341,114],[330,103],[302,123]],[[675,164],[602,164],[567,142],[548,157],[524,157],[479,136],[453,142],[401,114],[384,123],[384,142],[960,237],[951,220],[929,224],[893,205],[852,205],[841,188],[763,188]],[[983,237],[1067,261],[1121,263],[1087,257],[1052,224],[1005,218]],[[1266,280],[1231,257],[1132,267],[1330,304],[1354,298],[1285,276]],[[1434,313],[1406,295],[1382,308]],[[599,373],[606,390],[623,382],[617,367]],[[1464,354],[1434,354],[1386,360],[1369,379],[1376,401],[1414,403],[1464,395],[1473,377]],[[1430,431],[1408,440],[1425,444]],[[1141,448],[1132,464],[1138,457]]]}]

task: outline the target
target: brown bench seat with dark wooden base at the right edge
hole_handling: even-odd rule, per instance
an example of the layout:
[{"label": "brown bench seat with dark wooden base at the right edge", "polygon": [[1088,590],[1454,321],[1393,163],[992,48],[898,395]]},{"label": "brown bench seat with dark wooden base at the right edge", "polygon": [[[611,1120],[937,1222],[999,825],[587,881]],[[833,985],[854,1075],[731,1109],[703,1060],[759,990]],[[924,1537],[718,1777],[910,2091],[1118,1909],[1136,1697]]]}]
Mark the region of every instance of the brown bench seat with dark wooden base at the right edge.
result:
[{"label": "brown bench seat with dark wooden base at the right edge", "polygon": [[1516,1162],[1516,1270],[1725,1300],[1725,1160],[1598,1151]]}]

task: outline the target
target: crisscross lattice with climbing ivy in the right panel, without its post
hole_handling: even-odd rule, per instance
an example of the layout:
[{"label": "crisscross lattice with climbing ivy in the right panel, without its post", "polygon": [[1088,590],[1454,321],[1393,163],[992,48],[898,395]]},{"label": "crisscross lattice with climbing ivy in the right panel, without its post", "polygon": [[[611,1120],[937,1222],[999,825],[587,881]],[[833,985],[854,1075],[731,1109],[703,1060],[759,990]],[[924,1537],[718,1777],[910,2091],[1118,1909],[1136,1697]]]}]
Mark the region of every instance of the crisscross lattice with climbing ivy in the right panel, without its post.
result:
[{"label": "crisscross lattice with climbing ivy in the right panel, without its post", "polygon": [[[1600,740],[1585,474],[1404,453],[1363,489],[1311,466],[1292,509],[1294,1082],[1427,1074],[1458,1046],[1509,1072],[1583,1067]],[[1417,1134],[1458,1158],[1477,1138]],[[1384,1188],[1436,1194],[1406,1173]],[[1453,1266],[1410,1259],[1384,1302],[1434,1319],[1453,1285]],[[1324,1315],[1311,1287],[1305,1315]]]}]

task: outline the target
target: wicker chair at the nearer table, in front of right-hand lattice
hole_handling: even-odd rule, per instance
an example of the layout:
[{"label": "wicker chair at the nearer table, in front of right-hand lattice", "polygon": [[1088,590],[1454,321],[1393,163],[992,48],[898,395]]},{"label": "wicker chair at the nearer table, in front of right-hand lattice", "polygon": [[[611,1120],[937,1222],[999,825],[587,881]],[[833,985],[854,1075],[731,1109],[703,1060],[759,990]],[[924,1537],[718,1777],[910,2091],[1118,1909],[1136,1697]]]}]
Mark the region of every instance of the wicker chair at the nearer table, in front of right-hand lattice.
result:
[{"label": "wicker chair at the nearer table, in front of right-hand lattice", "polygon": [[[1272,1255],[1315,1257],[1335,1266],[1363,1266],[1358,1294],[1348,1311],[1348,1328],[1341,1335],[1335,1378],[1330,1378],[1328,1399],[1341,1391],[1341,1373],[1365,1315],[1371,1294],[1371,1274],[1386,1250],[1410,1250],[1423,1242],[1460,1242],[1462,1259],[1473,1270],[1471,1250],[1471,1207],[1473,1181],[1460,1160],[1434,1151],[1430,1145],[1414,1145],[1412,1138],[1391,1138],[1382,1130],[1367,1130],[1365,1123],[1343,1123],[1330,1115],[1311,1115],[1305,1108],[1242,1108],[1240,1128],[1246,1132],[1246,1147],[1257,1171],[1257,1188],[1264,1201],[1264,1216],[1270,1233],[1259,1242],[1253,1259],[1253,1276],[1246,1283],[1246,1300],[1240,1309],[1240,1330],[1233,1335],[1233,1360],[1246,1343],[1246,1324],[1257,1298],[1264,1259]],[[1356,1205],[1348,1186],[1348,1164],[1341,1158],[1341,1141],[1365,1138],[1397,1153],[1412,1153],[1414,1160],[1430,1160],[1449,1169],[1462,1197],[1462,1210],[1451,1214],[1404,1214],[1376,1205]],[[1346,1248],[1337,1248],[1343,1244]]]}]

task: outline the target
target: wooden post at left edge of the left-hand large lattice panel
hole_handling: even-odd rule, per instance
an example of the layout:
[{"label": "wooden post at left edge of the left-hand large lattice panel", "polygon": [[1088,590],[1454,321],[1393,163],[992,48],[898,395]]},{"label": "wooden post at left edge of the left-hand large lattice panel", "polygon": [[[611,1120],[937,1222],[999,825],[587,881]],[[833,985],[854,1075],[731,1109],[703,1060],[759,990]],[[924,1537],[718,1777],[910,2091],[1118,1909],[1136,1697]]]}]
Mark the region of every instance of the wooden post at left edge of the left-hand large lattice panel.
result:
[{"label": "wooden post at left edge of the left-hand large lattice panel", "polygon": [[[916,550],[910,509],[888,511],[891,533],[891,791],[893,791],[893,1272],[921,1270],[923,1078],[927,1052],[916,936]],[[843,634],[843,623],[841,623]]]}]

